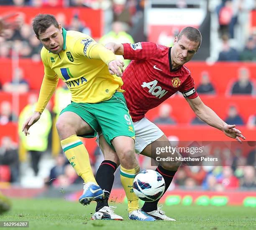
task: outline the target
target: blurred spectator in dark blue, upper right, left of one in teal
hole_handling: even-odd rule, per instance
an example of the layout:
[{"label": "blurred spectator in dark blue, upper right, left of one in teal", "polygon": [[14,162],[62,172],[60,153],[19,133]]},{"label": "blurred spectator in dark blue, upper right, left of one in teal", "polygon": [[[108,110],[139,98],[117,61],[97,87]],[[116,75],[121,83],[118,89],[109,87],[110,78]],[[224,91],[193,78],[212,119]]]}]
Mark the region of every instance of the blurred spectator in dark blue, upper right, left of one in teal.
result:
[{"label": "blurred spectator in dark blue, upper right, left of one in teal", "polygon": [[239,61],[238,51],[230,47],[228,39],[227,35],[222,36],[223,46],[222,51],[220,51],[218,61]]}]

